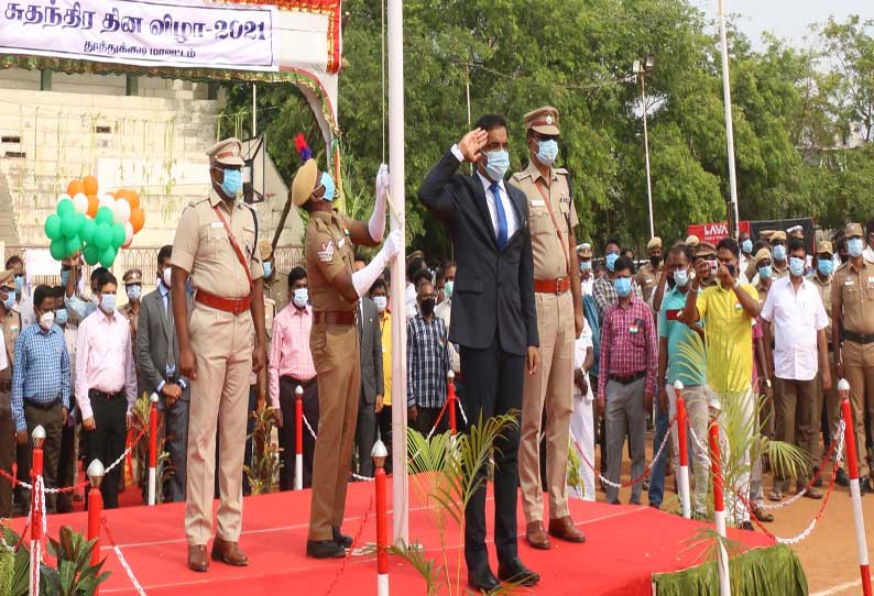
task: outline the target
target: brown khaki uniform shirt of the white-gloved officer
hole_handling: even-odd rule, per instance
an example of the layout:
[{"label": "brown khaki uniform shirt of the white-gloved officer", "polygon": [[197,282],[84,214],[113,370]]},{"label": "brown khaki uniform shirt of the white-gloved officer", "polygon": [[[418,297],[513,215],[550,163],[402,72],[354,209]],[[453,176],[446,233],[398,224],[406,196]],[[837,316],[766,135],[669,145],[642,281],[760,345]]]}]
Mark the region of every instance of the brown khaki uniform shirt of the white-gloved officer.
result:
[{"label": "brown khaki uniform shirt of the white-gloved officer", "polygon": [[348,218],[336,209],[310,213],[306,227],[306,273],[314,310],[356,310],[357,302],[349,302],[330,285],[343,271],[351,275],[353,261]]}]

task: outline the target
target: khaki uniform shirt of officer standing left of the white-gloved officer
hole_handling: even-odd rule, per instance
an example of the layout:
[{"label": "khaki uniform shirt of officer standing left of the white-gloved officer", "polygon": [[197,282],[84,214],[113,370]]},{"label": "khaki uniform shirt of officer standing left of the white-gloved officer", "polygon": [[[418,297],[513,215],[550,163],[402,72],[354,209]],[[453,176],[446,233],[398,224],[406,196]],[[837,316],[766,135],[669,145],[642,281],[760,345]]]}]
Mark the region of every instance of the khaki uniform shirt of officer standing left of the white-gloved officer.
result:
[{"label": "khaki uniform shirt of officer standing left of the white-gloved officer", "polygon": [[255,238],[254,212],[241,201],[236,201],[229,211],[227,202],[215,189],[210,189],[208,197],[189,202],[182,212],[173,241],[171,263],[189,272],[192,283],[197,289],[220,298],[244,298],[251,294],[249,280],[231,247],[228,232],[214,210],[215,207],[218,207],[228,222],[249,265],[252,280],[264,276]]}]

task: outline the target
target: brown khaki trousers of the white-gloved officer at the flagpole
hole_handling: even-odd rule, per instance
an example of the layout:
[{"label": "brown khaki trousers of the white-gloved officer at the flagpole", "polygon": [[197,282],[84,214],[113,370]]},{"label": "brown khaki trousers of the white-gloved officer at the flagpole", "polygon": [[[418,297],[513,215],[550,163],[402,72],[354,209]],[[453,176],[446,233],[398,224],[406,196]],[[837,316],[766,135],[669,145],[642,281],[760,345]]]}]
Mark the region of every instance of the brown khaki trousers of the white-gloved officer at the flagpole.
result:
[{"label": "brown khaki trousers of the white-gloved officer at the flagpole", "polygon": [[309,347],[318,375],[318,432],[313,461],[309,540],[331,540],[346,509],[361,390],[356,325],[314,324]]}]

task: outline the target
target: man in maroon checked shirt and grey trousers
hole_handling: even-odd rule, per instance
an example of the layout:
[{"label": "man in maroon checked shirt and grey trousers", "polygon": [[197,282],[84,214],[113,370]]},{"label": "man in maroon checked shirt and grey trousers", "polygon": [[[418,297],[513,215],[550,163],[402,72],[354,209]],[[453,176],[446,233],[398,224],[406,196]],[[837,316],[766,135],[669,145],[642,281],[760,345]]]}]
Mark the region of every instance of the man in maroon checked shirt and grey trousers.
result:
[{"label": "man in maroon checked shirt and grey trousers", "polygon": [[[658,350],[653,310],[632,291],[634,263],[615,260],[613,287],[619,300],[604,309],[598,377],[598,409],[607,419],[607,477],[619,482],[625,432],[631,446],[631,476],[644,471],[646,412],[653,408]],[[641,504],[643,485],[632,487],[631,503]],[[619,489],[608,486],[607,500],[619,503]]]}]

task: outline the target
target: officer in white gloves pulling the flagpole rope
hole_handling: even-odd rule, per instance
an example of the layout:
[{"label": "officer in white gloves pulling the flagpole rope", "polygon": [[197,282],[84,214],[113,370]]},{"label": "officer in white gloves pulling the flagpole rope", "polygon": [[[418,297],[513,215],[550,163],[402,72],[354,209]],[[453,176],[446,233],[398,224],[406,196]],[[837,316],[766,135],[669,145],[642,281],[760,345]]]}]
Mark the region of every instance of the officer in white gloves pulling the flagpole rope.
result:
[{"label": "officer in white gloves pulling the flagpole rope", "polygon": [[352,273],[352,244],[375,246],[385,232],[387,168],[376,178],[376,201],[370,221],[354,221],[334,209],[336,186],[330,174],[319,172],[302,152],[304,164],[292,183],[292,202],[309,213],[306,229],[306,269],[313,303],[309,347],[318,378],[319,424],[313,463],[313,494],[306,554],[315,559],[346,555],[352,539],[340,532],[346,488],[358,420],[361,358],[358,325],[359,299],[403,246],[395,230],[363,269]]}]

